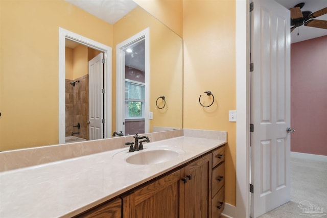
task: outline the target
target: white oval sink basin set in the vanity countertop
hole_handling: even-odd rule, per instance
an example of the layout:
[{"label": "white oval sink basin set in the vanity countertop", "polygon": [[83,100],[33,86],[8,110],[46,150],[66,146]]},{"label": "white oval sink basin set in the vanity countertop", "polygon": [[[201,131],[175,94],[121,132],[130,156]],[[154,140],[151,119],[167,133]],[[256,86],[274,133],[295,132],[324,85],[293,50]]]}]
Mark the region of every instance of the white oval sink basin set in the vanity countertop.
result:
[{"label": "white oval sink basin set in the vanity countertop", "polygon": [[125,160],[125,162],[137,165],[164,163],[176,159],[184,154],[180,148],[170,146],[151,146],[144,150],[128,152],[127,150],[118,152],[112,156],[113,159]]}]

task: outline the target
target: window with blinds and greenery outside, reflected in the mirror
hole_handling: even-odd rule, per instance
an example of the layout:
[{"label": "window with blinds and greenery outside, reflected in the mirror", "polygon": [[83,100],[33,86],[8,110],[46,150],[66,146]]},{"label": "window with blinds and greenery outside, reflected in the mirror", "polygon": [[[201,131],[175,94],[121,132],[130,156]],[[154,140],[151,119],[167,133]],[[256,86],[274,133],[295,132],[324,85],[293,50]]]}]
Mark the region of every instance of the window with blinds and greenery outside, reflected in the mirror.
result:
[{"label": "window with blinds and greenery outside, reflected in the mirror", "polygon": [[145,84],[125,79],[125,118],[145,117]]}]

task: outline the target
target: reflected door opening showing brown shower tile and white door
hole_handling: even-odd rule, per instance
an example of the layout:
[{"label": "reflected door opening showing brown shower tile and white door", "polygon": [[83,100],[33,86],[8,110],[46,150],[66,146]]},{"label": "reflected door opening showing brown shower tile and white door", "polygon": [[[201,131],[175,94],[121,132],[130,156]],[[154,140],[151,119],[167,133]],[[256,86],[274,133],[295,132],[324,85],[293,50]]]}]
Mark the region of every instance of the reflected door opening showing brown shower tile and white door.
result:
[{"label": "reflected door opening showing brown shower tile and white door", "polygon": [[103,53],[69,39],[65,43],[65,142],[101,139]]}]

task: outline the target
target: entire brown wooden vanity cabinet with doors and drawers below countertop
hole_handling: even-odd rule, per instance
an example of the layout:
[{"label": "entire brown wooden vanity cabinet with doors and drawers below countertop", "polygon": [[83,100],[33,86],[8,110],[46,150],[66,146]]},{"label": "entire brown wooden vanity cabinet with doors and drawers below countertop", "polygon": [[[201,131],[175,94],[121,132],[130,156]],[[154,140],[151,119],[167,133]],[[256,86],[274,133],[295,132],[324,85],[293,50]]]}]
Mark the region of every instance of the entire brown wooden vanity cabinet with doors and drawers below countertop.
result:
[{"label": "entire brown wooden vanity cabinet with doors and drawers below countertop", "polygon": [[225,202],[225,146],[75,217],[217,218]]}]

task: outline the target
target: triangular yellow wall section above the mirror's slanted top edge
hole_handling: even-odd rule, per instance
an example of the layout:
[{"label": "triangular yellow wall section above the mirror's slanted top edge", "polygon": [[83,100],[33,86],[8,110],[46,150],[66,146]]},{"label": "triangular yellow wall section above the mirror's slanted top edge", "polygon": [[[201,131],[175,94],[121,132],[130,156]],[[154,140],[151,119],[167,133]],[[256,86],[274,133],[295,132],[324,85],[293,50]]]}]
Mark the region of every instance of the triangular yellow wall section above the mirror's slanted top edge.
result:
[{"label": "triangular yellow wall section above the mirror's slanted top edge", "polygon": [[183,0],[134,0],[180,37],[183,36]]}]

